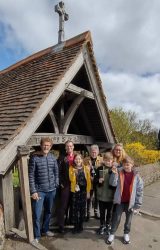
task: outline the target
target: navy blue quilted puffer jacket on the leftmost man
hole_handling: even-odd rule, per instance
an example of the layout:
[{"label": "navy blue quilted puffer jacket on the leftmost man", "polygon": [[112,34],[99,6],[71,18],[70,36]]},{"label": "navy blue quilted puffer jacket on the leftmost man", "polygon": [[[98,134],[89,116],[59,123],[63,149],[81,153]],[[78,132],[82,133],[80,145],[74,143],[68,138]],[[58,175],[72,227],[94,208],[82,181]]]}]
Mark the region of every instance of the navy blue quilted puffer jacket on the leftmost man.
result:
[{"label": "navy blue quilted puffer jacket on the leftmost man", "polygon": [[29,161],[29,185],[31,194],[49,192],[59,185],[58,165],[52,154],[33,155]]}]

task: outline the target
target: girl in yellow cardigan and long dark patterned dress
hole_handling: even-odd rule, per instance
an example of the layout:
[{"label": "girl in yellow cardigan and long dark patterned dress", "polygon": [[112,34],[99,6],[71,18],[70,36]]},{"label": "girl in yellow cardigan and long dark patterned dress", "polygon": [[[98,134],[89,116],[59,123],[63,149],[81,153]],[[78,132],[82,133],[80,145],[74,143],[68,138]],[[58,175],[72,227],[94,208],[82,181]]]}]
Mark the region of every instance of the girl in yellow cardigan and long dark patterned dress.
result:
[{"label": "girl in yellow cardigan and long dark patterned dress", "polygon": [[75,234],[83,231],[86,200],[89,198],[91,190],[90,171],[89,168],[83,164],[81,154],[75,155],[74,165],[69,168],[69,179],[72,192],[73,233]]}]

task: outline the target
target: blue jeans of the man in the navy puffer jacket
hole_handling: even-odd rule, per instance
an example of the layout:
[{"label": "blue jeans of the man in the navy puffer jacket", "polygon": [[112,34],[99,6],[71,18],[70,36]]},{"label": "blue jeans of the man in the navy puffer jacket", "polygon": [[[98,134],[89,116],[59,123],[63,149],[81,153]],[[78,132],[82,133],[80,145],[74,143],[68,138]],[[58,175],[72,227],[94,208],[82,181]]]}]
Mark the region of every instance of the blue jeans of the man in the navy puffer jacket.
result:
[{"label": "blue jeans of the man in the navy puffer jacket", "polygon": [[44,214],[42,220],[42,233],[46,233],[49,230],[49,221],[51,218],[51,211],[56,195],[56,190],[50,192],[38,192],[38,194],[40,197],[38,201],[32,199],[33,230],[34,237],[36,239],[39,239],[41,237],[41,215],[43,208]]}]

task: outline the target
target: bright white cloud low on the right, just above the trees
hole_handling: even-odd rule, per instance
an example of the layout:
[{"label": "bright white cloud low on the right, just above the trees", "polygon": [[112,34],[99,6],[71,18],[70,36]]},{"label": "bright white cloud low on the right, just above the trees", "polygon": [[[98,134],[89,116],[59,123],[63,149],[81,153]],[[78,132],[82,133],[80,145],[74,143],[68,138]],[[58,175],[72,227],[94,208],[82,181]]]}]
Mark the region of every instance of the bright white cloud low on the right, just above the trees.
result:
[{"label": "bright white cloud low on the right, just above the trees", "polygon": [[148,77],[116,72],[101,72],[107,102],[110,108],[123,107],[160,126],[160,74]]}]

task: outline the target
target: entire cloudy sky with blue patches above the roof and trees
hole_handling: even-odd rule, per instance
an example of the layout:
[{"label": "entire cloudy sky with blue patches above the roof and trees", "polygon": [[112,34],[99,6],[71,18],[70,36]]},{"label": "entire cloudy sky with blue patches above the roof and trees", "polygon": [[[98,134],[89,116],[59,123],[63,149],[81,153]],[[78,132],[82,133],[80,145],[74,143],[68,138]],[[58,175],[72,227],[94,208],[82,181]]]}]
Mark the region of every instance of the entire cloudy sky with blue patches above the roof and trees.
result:
[{"label": "entire cloudy sky with blue patches above the roof and trees", "polygon": [[[64,0],[65,39],[91,31],[109,108],[160,128],[160,1]],[[0,0],[0,70],[55,45],[55,0]]]}]

